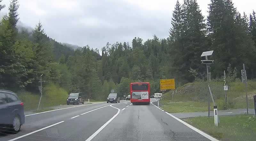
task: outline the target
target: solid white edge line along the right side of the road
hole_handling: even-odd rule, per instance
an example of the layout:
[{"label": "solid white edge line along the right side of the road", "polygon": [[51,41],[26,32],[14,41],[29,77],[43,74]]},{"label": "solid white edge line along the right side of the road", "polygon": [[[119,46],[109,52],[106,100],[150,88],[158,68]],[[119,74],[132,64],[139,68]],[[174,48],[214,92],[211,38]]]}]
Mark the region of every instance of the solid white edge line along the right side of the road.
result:
[{"label": "solid white edge line along the right side of the road", "polygon": [[[154,101],[152,101],[152,102],[154,102]],[[151,102],[151,104],[152,104],[152,102]],[[154,104],[153,104],[153,105],[154,105]],[[154,105],[154,106],[155,106],[155,105]],[[157,107],[157,106],[155,106],[155,107]],[[157,108],[160,109],[159,107],[157,107]],[[162,110],[162,109],[160,109],[160,110]],[[168,113],[168,112],[164,112],[164,113],[170,115],[171,117],[173,117],[173,118],[176,119],[177,121],[180,121],[180,122],[183,123],[184,125],[188,126],[190,129],[193,129],[194,131],[196,131],[197,133],[203,135],[204,137],[208,138],[209,140],[211,140],[211,141],[219,141],[219,140],[217,140],[216,138],[214,138],[214,137],[212,137],[212,136],[210,136],[210,135],[204,133],[203,131],[201,131],[201,130],[199,130],[199,129],[193,127],[193,126],[191,126],[191,125],[188,124],[187,122],[180,120],[179,118],[175,117],[174,115],[172,115],[172,114],[170,114],[170,113]]]}]

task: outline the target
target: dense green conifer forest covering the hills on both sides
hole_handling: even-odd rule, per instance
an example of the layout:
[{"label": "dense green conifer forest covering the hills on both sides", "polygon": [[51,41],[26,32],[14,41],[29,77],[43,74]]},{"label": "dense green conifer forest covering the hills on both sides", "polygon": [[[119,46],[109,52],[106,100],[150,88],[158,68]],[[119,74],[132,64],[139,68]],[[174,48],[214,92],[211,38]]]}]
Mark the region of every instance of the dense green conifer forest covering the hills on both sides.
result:
[{"label": "dense green conifer forest covering the hills on both sides", "polygon": [[[5,8],[1,5],[0,10]],[[255,78],[256,13],[236,11],[231,0],[211,0],[204,17],[196,0],[177,1],[170,21],[169,36],[156,35],[145,42],[106,43],[101,50],[85,45],[73,50],[46,35],[44,21],[32,33],[18,30],[19,3],[12,0],[9,13],[0,22],[0,88],[38,92],[40,75],[67,92],[78,89],[88,98],[105,99],[110,89],[129,93],[130,82],[150,82],[151,93],[159,92],[159,79],[175,78],[177,85],[205,81],[203,51],[214,50],[210,59],[212,78],[223,70],[239,72],[246,64],[247,76]],[[101,55],[100,55],[101,51]],[[232,69],[230,69],[232,68]]]}]

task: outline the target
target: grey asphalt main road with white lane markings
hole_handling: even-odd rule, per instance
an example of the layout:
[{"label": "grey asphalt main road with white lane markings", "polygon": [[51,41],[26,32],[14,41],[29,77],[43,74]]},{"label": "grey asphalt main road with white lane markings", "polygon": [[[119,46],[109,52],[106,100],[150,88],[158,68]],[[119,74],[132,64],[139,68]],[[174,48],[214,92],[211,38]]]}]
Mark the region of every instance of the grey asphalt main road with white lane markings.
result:
[{"label": "grey asphalt main road with white lane markings", "polygon": [[1,131],[0,141],[217,141],[152,102],[121,100],[28,115],[19,133]]}]

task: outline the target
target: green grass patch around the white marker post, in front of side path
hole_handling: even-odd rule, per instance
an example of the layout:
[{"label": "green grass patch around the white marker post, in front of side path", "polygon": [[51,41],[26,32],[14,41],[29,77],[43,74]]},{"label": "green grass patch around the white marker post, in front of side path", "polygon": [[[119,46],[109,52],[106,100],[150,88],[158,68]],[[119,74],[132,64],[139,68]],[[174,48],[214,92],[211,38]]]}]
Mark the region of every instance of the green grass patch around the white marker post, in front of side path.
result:
[{"label": "green grass patch around the white marker post, in front of side path", "polygon": [[215,127],[213,117],[196,117],[183,120],[223,141],[255,141],[255,115],[220,116],[219,127]]}]

